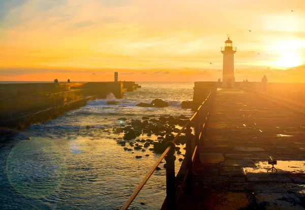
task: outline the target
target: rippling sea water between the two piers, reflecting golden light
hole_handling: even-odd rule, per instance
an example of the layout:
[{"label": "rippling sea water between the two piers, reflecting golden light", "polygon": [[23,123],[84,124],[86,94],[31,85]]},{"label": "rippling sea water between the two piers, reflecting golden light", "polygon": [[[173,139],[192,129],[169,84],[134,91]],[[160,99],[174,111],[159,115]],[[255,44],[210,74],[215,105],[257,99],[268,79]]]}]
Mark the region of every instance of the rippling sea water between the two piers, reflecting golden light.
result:
[{"label": "rippling sea water between the two piers, reflecting golden light", "polygon": [[[191,116],[181,101],[192,100],[193,82],[139,82],[123,99],[89,101],[44,124],[0,136],[0,209],[119,209],[160,155],[125,151],[112,129],[154,114]],[[137,107],[160,98],[169,107]],[[107,105],[116,100],[117,105]],[[125,117],[126,121],[118,120]],[[86,126],[95,128],[86,129]],[[103,128],[103,129],[101,129]],[[26,140],[31,137],[31,140]],[[116,138],[116,139],[115,139]],[[138,139],[157,139],[140,136]],[[144,143],[141,143],[144,144]],[[176,155],[176,172],[185,150]],[[132,148],[129,144],[126,147]],[[134,152],[134,153],[132,153]],[[149,156],[146,157],[145,155]],[[141,159],[135,156],[141,155]],[[165,163],[165,161],[164,161]],[[165,168],[155,171],[129,209],[160,209],[166,196]]]}]

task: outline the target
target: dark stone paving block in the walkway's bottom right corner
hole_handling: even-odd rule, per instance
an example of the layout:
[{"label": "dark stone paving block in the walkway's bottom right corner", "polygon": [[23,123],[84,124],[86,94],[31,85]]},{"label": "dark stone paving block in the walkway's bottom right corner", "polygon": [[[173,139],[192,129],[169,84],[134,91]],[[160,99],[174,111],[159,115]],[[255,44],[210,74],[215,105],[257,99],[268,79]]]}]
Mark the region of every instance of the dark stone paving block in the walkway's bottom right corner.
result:
[{"label": "dark stone paving block in the walkway's bottom right corner", "polygon": [[304,197],[298,194],[259,193],[255,195],[257,205],[265,209],[274,210],[303,210]]}]

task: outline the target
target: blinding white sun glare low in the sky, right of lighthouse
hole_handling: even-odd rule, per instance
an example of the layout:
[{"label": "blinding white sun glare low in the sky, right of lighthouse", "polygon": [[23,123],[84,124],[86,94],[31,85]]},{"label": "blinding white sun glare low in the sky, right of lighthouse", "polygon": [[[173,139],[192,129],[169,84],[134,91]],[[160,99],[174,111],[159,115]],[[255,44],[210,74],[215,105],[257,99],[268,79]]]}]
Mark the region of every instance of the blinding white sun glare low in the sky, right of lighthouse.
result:
[{"label": "blinding white sun glare low in the sky, right of lighthouse", "polygon": [[280,59],[275,62],[278,67],[296,67],[302,64],[302,58],[296,51],[285,51],[281,53]]}]

